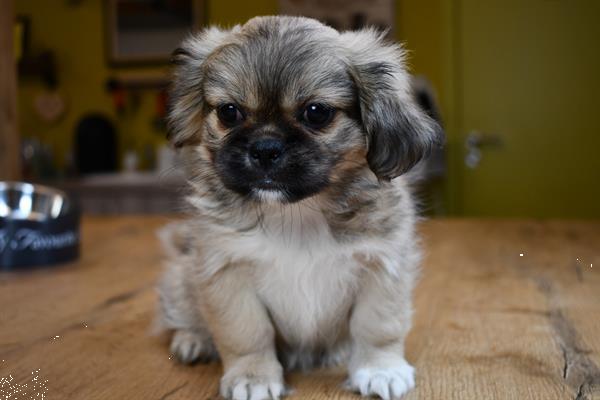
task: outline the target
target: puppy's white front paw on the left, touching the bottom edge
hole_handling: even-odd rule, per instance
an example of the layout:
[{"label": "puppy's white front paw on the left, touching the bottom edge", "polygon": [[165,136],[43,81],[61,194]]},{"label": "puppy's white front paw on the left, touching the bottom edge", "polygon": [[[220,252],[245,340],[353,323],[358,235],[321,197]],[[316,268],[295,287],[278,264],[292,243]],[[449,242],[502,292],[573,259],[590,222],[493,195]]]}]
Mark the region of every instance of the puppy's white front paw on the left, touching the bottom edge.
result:
[{"label": "puppy's white front paw on the left, touching the bottom edge", "polygon": [[233,382],[221,381],[221,396],[231,400],[279,400],[285,395],[278,379],[243,377]]}]

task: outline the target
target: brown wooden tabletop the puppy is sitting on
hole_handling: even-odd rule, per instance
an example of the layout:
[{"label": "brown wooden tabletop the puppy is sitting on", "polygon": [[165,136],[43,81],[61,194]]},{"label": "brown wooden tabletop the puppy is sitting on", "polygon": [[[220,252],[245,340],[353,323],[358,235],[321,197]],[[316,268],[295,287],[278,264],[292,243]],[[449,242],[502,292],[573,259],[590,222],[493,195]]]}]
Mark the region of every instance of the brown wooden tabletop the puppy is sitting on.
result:
[{"label": "brown wooden tabletop the puppy is sitting on", "polygon": [[[217,398],[218,364],[177,365],[150,335],[167,220],[88,218],[76,264],[0,274],[1,399]],[[421,231],[408,399],[600,398],[600,222]],[[287,379],[292,398],[358,399],[339,389],[342,370]]]}]

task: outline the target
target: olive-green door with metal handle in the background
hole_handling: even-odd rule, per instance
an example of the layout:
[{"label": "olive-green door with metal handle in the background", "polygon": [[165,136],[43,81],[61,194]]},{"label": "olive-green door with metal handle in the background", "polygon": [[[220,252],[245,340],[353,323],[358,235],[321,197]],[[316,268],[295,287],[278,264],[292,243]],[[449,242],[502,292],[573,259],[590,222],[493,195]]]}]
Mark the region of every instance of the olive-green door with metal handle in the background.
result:
[{"label": "olive-green door with metal handle in the background", "polygon": [[459,212],[600,217],[600,1],[456,5]]}]

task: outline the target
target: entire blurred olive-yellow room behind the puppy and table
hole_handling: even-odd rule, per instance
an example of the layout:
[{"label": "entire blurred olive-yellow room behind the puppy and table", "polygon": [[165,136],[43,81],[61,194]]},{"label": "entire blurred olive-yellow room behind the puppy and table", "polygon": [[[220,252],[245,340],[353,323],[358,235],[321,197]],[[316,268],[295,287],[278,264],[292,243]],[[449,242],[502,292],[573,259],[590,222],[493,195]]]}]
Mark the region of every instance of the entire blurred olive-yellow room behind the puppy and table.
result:
[{"label": "entire blurred olive-yellow room behind the puppy and table", "polygon": [[89,214],[177,210],[169,54],[195,29],[272,14],[404,43],[446,132],[425,214],[600,217],[597,0],[3,0],[0,180],[57,186]]}]

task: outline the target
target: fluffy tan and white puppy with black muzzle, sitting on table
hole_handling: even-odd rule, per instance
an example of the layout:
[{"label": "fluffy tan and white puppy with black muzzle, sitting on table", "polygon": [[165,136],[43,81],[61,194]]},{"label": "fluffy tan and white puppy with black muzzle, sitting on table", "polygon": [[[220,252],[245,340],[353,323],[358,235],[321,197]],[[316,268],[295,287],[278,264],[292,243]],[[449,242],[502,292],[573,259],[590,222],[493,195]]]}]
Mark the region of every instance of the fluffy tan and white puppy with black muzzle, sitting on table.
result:
[{"label": "fluffy tan and white puppy with black muzzle, sitting on table", "polygon": [[418,272],[405,176],[438,140],[403,51],[366,29],[259,17],[174,53],[170,140],[190,218],[163,231],[160,321],[182,362],[220,357],[221,395],[278,399],[284,368],[347,364],[397,399]]}]

